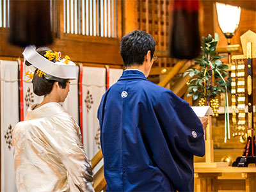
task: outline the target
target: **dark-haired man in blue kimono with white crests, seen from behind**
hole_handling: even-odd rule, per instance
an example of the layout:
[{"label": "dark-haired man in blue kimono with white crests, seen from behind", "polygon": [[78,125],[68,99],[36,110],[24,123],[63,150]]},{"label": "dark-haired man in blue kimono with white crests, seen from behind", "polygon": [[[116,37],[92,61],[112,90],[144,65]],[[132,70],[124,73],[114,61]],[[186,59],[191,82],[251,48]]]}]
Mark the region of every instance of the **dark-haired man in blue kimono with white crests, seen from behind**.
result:
[{"label": "dark-haired man in blue kimono with white crests, seen from behind", "polygon": [[148,81],[155,45],[144,31],[122,38],[126,70],[100,102],[106,191],[193,191],[193,156],[204,156],[207,120]]}]

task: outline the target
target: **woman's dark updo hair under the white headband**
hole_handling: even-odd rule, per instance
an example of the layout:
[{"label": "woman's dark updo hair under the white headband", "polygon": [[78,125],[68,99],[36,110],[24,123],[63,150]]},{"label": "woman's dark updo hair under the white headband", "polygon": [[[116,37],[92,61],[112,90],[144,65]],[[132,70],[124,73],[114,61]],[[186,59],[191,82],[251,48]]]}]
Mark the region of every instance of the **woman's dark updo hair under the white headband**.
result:
[{"label": "woman's dark updo hair under the white headband", "polygon": [[[46,58],[44,55],[46,54],[46,51],[49,51],[49,50],[51,50],[51,49],[49,49],[48,47],[39,47],[38,49],[36,49],[36,52],[38,52],[41,56]],[[56,60],[54,58],[51,61],[53,63],[55,63]],[[27,66],[32,65],[28,61],[26,61],[25,64]],[[60,84],[61,88],[63,88],[63,89],[66,88],[69,79],[61,79],[59,77],[54,77],[54,76],[51,76],[46,73],[40,74],[39,72],[40,72],[40,70],[38,68],[36,68],[34,76],[33,76],[33,80],[32,80],[33,92],[36,95],[42,96],[42,95],[47,95],[47,94],[51,93],[52,86],[53,86],[54,82],[56,82],[56,81]]]}]

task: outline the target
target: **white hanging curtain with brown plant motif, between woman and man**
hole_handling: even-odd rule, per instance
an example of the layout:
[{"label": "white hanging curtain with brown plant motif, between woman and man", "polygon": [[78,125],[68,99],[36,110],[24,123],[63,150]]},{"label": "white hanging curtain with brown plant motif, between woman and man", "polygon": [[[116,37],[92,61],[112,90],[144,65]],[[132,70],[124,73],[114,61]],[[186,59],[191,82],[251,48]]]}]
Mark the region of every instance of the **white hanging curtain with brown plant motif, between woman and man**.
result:
[{"label": "white hanging curtain with brown plant motif, between woman and man", "polygon": [[106,92],[106,69],[83,67],[83,143],[84,149],[92,159],[100,149],[99,120],[97,110],[102,95]]}]

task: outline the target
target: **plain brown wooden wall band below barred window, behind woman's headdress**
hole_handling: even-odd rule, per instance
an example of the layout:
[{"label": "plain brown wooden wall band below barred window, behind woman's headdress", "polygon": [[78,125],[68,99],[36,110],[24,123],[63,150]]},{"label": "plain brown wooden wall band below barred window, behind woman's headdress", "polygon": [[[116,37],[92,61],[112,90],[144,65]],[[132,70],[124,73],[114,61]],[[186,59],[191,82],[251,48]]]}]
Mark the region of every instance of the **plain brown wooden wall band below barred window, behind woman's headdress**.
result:
[{"label": "plain brown wooden wall band below barred window, behind woman's headdress", "polygon": [[[1,30],[0,35],[4,36],[0,38],[0,56],[22,57],[23,48],[8,44],[6,30]],[[74,62],[117,65],[122,68],[123,61],[119,54],[117,38],[83,36],[84,40],[74,39],[72,35],[63,39],[55,38],[54,44],[49,47],[54,51],[61,51],[62,57],[67,54]]]}]

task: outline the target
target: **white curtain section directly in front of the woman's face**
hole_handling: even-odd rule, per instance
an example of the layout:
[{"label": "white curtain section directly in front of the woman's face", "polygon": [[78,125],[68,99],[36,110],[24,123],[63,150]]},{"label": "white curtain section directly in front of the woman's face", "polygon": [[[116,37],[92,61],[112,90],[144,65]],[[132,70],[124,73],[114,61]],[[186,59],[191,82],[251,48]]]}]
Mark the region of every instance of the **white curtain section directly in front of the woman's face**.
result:
[{"label": "white curtain section directly in front of the woman's face", "polygon": [[68,97],[65,99],[65,102],[63,102],[63,108],[66,109],[68,114],[74,118],[74,120],[79,123],[79,118],[78,118],[78,72],[79,68],[76,67],[76,72],[77,72],[77,79],[71,80],[70,82],[70,91],[68,92]]}]

